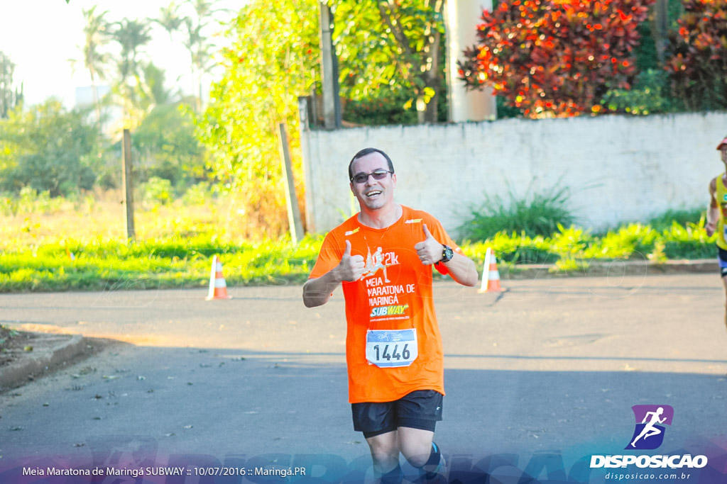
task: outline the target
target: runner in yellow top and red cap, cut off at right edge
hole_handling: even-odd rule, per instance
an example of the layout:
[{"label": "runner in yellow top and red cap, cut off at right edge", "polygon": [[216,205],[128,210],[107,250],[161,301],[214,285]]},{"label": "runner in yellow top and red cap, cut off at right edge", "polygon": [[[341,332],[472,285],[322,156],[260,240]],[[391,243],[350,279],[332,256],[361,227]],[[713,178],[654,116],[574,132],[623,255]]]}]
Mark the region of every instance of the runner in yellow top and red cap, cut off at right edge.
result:
[{"label": "runner in yellow top and red cap, cut off at right edge", "polygon": [[720,141],[717,149],[726,171],[710,181],[710,207],[707,209],[707,225],[704,228],[710,237],[715,231],[717,232],[720,275],[726,293],[725,325],[727,326],[727,234],[725,233],[727,230],[725,225],[725,218],[727,218],[727,137]]}]

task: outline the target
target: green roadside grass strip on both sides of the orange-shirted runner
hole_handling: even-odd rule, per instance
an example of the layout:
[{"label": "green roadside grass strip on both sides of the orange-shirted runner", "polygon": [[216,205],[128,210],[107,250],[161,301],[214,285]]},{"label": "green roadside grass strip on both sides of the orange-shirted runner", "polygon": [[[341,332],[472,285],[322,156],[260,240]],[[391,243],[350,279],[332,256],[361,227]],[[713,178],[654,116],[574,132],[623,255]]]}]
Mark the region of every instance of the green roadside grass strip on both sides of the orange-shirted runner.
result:
[{"label": "green roadside grass strip on both sides of the orange-shirted runner", "polygon": [[[125,245],[114,240],[65,240],[0,254],[0,292],[203,288],[212,255],[223,263],[230,286],[301,284],[316,262],[322,237],[291,242],[221,242],[210,237],[149,239]],[[630,224],[595,237],[577,226],[560,226],[550,237],[500,232],[484,242],[463,243],[480,268],[487,247],[509,266],[556,264],[581,271],[593,261],[712,258],[714,237],[704,226],[674,222],[669,229]],[[69,257],[73,254],[73,259]]]}]

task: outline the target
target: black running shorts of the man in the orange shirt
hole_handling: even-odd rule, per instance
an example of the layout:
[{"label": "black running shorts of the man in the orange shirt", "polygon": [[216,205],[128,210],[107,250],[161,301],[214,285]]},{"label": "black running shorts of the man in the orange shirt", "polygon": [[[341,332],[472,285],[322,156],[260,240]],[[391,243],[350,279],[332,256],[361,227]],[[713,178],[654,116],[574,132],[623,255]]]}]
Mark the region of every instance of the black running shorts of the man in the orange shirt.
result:
[{"label": "black running shorts of the man in the orange shirt", "polygon": [[393,402],[351,403],[353,430],[374,437],[398,427],[430,430],[442,419],[442,394],[415,390]]}]

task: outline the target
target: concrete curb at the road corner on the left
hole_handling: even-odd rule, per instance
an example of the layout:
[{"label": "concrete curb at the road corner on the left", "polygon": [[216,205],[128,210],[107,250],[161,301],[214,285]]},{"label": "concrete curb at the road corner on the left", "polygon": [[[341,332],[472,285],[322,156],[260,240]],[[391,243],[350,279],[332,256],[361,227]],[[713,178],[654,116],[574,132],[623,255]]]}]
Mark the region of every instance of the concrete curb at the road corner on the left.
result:
[{"label": "concrete curb at the road corner on the left", "polygon": [[0,372],[0,391],[23,385],[33,375],[41,374],[52,366],[76,358],[86,350],[86,346],[86,338],[81,335],[71,335],[69,340],[51,350],[28,356],[28,358],[21,358],[20,361]]}]

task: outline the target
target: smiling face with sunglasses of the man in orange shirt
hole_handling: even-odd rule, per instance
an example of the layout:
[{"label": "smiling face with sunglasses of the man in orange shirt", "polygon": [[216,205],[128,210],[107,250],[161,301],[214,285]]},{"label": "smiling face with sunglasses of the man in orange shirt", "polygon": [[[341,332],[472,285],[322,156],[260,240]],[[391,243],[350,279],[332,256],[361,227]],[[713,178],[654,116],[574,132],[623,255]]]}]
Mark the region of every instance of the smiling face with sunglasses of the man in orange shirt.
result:
[{"label": "smiling face with sunglasses of the man in orange shirt", "polygon": [[[379,152],[357,158],[351,165],[353,176],[358,173],[373,173],[377,170],[390,170],[386,158]],[[387,176],[380,180],[369,176],[363,183],[351,181],[350,187],[351,192],[358,199],[358,204],[361,205],[361,211],[394,207],[395,173],[387,173]]]}]

